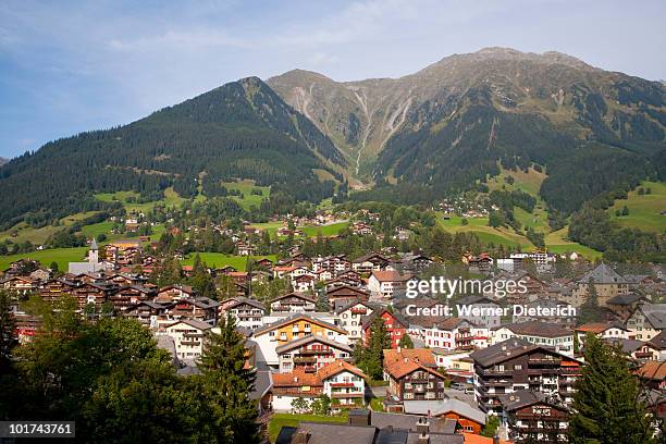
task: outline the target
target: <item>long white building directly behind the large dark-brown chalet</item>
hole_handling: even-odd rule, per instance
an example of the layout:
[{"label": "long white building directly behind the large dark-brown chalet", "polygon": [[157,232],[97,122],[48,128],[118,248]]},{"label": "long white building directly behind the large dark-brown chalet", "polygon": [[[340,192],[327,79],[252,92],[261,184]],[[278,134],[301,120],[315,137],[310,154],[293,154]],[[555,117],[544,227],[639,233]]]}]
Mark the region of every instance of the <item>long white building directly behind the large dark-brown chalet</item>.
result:
[{"label": "long white building directly behind the large dark-brown chalet", "polygon": [[502,325],[491,330],[490,344],[503,343],[513,337],[553,347],[555,351],[574,356],[574,332],[559,324],[531,321]]}]

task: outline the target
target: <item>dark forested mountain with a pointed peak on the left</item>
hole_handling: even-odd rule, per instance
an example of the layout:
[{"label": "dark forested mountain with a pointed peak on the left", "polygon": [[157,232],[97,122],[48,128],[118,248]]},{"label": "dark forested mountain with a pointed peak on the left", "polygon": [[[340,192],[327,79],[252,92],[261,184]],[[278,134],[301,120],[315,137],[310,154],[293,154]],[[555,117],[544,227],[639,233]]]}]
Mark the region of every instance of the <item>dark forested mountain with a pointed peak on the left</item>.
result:
[{"label": "dark forested mountain with a pointed peak on the left", "polygon": [[46,144],[0,168],[0,226],[40,224],[96,209],[95,193],[134,189],[193,197],[251,178],[317,201],[332,194],[313,170],[346,161],[308,119],[257,77],[215,88],[125,126]]}]

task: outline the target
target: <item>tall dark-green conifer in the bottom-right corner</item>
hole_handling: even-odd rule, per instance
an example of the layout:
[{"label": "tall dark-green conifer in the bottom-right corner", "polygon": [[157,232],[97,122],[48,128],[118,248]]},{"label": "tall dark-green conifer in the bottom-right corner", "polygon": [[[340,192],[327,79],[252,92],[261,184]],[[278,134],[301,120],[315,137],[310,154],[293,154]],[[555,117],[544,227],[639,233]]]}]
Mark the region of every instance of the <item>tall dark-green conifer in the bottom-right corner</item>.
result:
[{"label": "tall dark-green conifer in the bottom-right corner", "polygon": [[620,348],[594,334],[585,337],[585,366],[576,382],[569,441],[599,444],[654,442],[638,380]]}]

